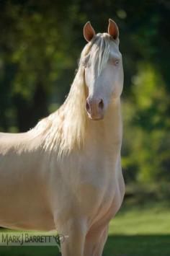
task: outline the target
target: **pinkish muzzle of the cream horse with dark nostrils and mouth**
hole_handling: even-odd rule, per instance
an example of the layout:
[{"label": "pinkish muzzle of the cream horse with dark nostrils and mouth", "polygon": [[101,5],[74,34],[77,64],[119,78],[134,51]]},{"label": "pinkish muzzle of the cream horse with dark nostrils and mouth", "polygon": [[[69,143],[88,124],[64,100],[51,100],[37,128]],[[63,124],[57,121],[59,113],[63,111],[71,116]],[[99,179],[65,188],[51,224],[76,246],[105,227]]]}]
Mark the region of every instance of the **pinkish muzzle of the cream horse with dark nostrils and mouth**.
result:
[{"label": "pinkish muzzle of the cream horse with dark nostrils and mouth", "polygon": [[104,117],[104,102],[101,98],[93,99],[88,97],[86,100],[86,111],[89,118],[92,120],[99,120]]}]

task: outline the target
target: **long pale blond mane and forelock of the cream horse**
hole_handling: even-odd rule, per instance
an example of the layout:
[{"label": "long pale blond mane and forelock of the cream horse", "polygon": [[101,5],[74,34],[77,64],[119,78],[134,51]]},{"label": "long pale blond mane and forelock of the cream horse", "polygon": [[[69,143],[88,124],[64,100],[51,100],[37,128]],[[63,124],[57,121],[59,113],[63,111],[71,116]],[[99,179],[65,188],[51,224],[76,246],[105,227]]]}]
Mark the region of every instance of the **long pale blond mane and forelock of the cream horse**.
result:
[{"label": "long pale blond mane and forelock of the cream horse", "polygon": [[111,37],[107,33],[97,34],[81,52],[79,69],[76,73],[71,90],[66,101],[61,107],[40,120],[30,132],[34,136],[42,135],[47,149],[55,149],[58,154],[66,154],[74,148],[80,148],[84,144],[88,117],[85,110],[86,84],[84,81],[84,58],[91,61],[91,65],[97,66],[100,74],[109,58],[109,43]]}]

